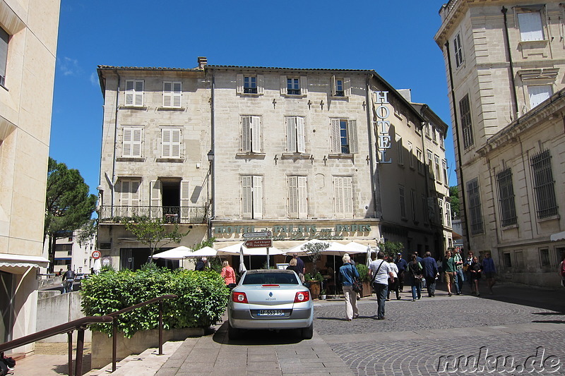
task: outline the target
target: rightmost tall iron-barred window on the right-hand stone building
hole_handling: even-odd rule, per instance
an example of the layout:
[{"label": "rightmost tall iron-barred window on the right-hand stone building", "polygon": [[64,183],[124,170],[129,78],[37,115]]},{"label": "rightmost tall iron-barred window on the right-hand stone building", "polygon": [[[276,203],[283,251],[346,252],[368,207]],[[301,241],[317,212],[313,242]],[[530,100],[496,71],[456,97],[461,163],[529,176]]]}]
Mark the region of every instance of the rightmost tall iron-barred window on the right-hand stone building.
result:
[{"label": "rightmost tall iron-barred window on the right-hand stone building", "polygon": [[537,218],[547,218],[557,215],[554,180],[551,164],[551,154],[545,150],[530,158],[533,175]]}]

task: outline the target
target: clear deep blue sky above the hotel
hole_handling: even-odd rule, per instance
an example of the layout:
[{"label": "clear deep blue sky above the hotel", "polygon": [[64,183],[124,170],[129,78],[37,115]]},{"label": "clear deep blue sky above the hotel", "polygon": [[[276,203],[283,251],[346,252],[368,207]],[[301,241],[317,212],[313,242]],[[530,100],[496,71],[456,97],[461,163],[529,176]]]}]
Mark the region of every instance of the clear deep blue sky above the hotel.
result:
[{"label": "clear deep blue sky above the hotel", "polygon": [[[428,104],[451,127],[434,42],[445,2],[61,0],[49,155],[81,171],[97,193],[96,67],[194,68],[197,56],[215,65],[374,69],[396,89],[412,89],[412,102]],[[453,186],[451,131],[446,148]]]}]

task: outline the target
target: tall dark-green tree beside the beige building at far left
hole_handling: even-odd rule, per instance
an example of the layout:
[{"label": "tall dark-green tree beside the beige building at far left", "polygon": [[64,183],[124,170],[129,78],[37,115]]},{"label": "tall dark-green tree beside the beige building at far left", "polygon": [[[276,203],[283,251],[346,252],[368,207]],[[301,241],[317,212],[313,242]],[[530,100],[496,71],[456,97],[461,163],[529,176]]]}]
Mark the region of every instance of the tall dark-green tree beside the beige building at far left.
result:
[{"label": "tall dark-green tree beside the beige building at far left", "polygon": [[65,232],[75,231],[92,217],[96,196],[88,191],[88,185],[77,169],[69,169],[66,164],[49,157],[44,238],[49,239],[50,272],[53,272],[57,238]]}]

